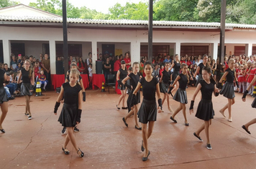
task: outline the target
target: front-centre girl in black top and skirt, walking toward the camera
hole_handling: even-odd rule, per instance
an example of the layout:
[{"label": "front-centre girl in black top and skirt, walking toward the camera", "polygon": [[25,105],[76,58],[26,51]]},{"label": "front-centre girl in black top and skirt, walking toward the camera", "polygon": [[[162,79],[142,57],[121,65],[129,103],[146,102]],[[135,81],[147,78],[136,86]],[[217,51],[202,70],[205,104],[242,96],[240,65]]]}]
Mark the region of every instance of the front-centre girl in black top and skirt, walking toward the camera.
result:
[{"label": "front-centre girl in black top and skirt, walking toward the camera", "polygon": [[[142,146],[141,150],[145,150],[142,160],[146,161],[150,151],[147,148],[147,139],[152,134],[154,123],[157,120],[157,104],[155,102],[155,92],[157,92],[158,97],[158,110],[162,108],[162,99],[160,97],[160,87],[157,78],[152,77],[153,65],[152,62],[145,62],[144,72],[146,77],[142,77],[140,82],[138,82],[136,89],[133,92],[133,98],[136,98],[137,92],[139,92],[142,86],[143,101],[140,106],[140,110],[137,115],[139,121],[142,123]],[[132,104],[136,104],[136,100],[133,99]],[[147,122],[149,122],[147,128]]]}]

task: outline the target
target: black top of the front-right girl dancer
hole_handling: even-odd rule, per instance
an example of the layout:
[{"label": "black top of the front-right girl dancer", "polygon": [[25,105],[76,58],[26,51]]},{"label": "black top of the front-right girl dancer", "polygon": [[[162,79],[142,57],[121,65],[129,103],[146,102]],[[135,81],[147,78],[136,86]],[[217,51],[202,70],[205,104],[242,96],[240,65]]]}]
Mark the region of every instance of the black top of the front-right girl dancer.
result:
[{"label": "black top of the front-right girl dancer", "polygon": [[204,100],[211,100],[212,92],[214,92],[214,80],[211,80],[210,84],[207,84],[206,81],[201,80],[199,82],[201,84],[201,95]]}]

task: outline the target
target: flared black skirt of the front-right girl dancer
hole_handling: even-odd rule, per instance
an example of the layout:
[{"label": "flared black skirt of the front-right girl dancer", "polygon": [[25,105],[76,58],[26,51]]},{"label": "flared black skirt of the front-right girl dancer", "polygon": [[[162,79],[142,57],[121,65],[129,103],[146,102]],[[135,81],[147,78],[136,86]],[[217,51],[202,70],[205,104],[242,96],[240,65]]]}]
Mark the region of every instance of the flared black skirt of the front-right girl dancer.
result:
[{"label": "flared black skirt of the front-right girl dancer", "polygon": [[205,121],[208,121],[214,118],[214,108],[211,100],[202,99],[199,102],[196,110],[196,117]]}]

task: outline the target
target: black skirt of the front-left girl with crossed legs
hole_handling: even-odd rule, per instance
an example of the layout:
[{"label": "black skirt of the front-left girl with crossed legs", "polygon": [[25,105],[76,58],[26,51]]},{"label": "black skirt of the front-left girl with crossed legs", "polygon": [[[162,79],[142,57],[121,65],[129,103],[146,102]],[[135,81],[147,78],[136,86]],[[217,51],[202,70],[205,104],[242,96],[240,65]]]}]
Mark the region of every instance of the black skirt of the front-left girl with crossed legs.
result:
[{"label": "black skirt of the front-left girl with crossed legs", "polygon": [[78,115],[78,105],[68,105],[63,104],[63,109],[60,112],[60,117],[58,122],[61,123],[63,127],[75,127],[76,117]]}]

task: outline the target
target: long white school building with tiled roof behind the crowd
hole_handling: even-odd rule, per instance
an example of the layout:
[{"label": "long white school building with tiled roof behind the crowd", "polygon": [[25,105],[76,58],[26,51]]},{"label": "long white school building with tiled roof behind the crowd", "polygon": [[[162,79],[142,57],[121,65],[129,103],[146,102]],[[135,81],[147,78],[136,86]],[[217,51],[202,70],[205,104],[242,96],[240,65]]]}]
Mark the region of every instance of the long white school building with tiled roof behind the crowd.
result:
[{"label": "long white school building with tiled roof behind the crowd", "polygon": [[[68,54],[88,58],[130,52],[132,62],[147,56],[147,21],[68,19]],[[153,21],[153,56],[218,55],[219,23]],[[256,54],[256,25],[226,24],[226,54]],[[56,57],[63,57],[62,16],[19,4],[0,9],[0,62],[10,55],[50,55],[51,74]],[[93,69],[95,72],[95,69]]]}]

